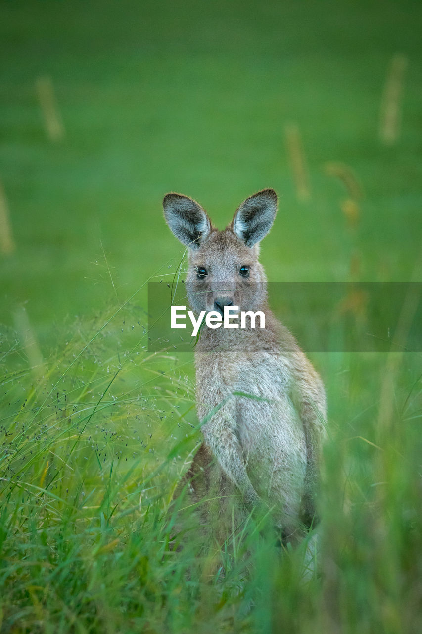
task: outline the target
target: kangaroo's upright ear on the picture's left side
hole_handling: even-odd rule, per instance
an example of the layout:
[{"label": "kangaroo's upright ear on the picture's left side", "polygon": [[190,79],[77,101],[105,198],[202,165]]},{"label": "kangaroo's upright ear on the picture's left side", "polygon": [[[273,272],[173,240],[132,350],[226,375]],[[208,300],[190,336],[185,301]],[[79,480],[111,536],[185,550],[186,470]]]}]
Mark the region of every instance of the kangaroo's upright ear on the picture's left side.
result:
[{"label": "kangaroo's upright ear on the picture's left side", "polygon": [[201,205],[188,196],[169,193],[164,197],[163,209],[176,238],[191,249],[199,249],[211,231],[210,219]]}]

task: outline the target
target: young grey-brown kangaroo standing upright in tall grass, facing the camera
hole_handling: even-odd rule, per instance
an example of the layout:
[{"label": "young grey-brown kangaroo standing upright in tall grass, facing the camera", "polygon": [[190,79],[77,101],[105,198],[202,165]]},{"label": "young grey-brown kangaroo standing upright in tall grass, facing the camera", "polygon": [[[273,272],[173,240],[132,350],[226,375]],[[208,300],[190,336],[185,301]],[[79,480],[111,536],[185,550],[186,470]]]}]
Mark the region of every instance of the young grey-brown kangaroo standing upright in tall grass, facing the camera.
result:
[{"label": "young grey-brown kangaroo standing upright in tall grass, facing the camera", "polygon": [[224,231],[192,198],[169,193],[163,208],[170,230],[189,247],[193,311],[223,314],[233,305],[265,315],[264,328],[248,317],[243,329],[200,332],[196,399],[204,440],[188,472],[190,491],[198,501],[219,498],[218,514],[236,492],[243,508],[271,507],[283,540],[297,542],[304,524],[315,522],[326,404],[321,378],[267,304],[259,242],[276,217],[276,192],[246,198]]}]

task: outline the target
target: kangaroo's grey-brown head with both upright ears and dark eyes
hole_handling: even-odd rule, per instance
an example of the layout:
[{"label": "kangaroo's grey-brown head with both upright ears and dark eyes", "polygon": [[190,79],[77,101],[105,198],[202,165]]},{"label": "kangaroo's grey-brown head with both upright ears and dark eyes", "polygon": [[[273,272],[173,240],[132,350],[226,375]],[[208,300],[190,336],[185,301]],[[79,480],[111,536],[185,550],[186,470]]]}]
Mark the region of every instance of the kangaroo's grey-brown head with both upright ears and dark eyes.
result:
[{"label": "kangaroo's grey-brown head with both upright ears and dark eyes", "polygon": [[192,198],[169,193],[163,207],[170,229],[189,247],[186,288],[193,309],[223,313],[233,304],[241,311],[259,310],[266,300],[259,242],[276,217],[276,192],[267,189],[246,198],[223,231]]}]

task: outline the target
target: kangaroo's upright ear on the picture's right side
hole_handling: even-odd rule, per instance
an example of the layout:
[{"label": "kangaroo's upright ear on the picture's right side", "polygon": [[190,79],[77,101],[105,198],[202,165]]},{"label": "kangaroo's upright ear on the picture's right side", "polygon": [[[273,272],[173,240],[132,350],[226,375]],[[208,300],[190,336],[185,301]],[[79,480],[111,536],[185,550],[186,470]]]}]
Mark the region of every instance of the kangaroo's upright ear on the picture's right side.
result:
[{"label": "kangaroo's upright ear on the picture's right side", "polygon": [[271,229],[277,213],[277,194],[261,190],[246,198],[234,214],[233,231],[247,247],[262,240]]}]

